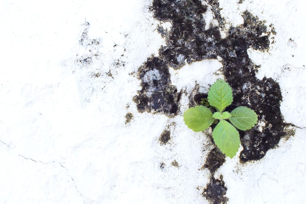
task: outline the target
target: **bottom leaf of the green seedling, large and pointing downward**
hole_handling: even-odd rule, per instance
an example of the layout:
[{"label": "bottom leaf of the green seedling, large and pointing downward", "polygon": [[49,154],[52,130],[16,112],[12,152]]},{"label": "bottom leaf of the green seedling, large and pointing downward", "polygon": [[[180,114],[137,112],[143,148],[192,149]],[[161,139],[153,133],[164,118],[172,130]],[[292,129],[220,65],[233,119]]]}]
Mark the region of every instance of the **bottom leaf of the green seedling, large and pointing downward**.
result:
[{"label": "bottom leaf of the green seedling, large and pointing downward", "polygon": [[226,120],[221,120],[213,131],[215,144],[226,156],[233,158],[240,146],[240,137],[236,128]]}]

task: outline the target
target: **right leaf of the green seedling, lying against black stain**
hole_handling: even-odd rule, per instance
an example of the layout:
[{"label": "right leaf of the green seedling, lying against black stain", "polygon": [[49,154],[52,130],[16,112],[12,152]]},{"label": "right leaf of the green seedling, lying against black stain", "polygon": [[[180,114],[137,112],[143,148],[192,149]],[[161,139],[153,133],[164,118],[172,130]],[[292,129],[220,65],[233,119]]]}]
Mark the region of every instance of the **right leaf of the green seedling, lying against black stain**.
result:
[{"label": "right leaf of the green seedling, lying against black stain", "polygon": [[250,130],[257,123],[257,114],[245,106],[234,109],[231,115],[229,121],[239,130]]}]

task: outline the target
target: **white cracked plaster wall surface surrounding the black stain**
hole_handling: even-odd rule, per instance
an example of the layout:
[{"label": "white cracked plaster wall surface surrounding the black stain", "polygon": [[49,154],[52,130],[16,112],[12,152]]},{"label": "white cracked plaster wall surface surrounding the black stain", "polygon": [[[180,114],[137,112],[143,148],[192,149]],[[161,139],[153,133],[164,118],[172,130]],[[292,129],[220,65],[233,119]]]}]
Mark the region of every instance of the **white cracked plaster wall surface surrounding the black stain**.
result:
[{"label": "white cracked plaster wall surface surrounding the black stain", "polygon": [[[227,158],[217,174],[223,175],[228,188],[228,204],[304,204],[302,2],[220,0],[229,24],[240,24],[240,13],[248,9],[275,27],[275,44],[269,53],[249,50],[249,54],[262,66],[259,78],[273,77],[280,83],[284,119],[304,127],[261,161],[241,165],[238,158]],[[198,169],[208,153],[202,152],[208,139],[189,130],[181,115],[169,119],[138,113],[132,102],[140,82],[130,73],[164,43],[155,30],[158,22],[148,12],[150,3],[0,2],[1,204],[207,203],[200,194],[208,172]],[[88,38],[98,39],[100,45],[79,45],[86,29]],[[80,55],[93,56],[93,52],[98,58],[93,57],[90,66],[78,63]],[[124,67],[113,66],[120,60]],[[211,63],[218,69],[218,61]],[[196,71],[202,63],[191,66]],[[101,76],[92,77],[97,72]],[[183,88],[184,68],[172,74],[174,84]],[[188,75],[188,80],[207,80],[208,75]],[[183,112],[186,107],[181,108]],[[129,112],[134,118],[125,124]],[[158,137],[170,124],[175,124],[169,126],[171,142],[160,146]],[[171,165],[174,160],[178,168]]]}]

